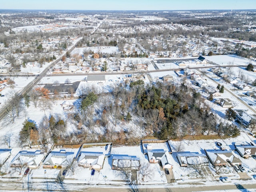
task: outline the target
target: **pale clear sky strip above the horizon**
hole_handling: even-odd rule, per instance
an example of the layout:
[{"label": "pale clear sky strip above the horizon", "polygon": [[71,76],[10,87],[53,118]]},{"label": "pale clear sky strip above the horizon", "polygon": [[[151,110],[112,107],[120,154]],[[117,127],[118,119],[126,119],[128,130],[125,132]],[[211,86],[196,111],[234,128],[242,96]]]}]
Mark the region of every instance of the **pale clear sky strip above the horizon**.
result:
[{"label": "pale clear sky strip above the horizon", "polygon": [[1,0],[0,9],[235,10],[256,9],[256,0]]}]

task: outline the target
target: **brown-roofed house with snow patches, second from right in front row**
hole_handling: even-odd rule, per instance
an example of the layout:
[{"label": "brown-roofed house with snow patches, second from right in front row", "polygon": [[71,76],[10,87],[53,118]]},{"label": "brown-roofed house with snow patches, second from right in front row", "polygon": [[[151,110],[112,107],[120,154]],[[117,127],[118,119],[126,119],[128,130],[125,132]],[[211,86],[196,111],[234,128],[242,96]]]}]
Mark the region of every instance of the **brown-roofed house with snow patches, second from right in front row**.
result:
[{"label": "brown-roofed house with snow patches, second from right in front row", "polygon": [[213,166],[239,165],[242,161],[232,150],[205,150]]}]

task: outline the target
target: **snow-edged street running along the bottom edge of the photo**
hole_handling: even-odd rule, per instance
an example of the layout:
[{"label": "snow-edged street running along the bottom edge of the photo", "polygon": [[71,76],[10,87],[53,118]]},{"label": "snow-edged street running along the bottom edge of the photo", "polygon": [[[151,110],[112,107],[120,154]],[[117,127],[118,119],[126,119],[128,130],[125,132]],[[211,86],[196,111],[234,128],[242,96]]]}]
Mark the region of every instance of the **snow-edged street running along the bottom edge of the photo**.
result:
[{"label": "snow-edged street running along the bottom edge of the photo", "polygon": [[[190,184],[190,186],[188,186]],[[210,192],[222,192],[222,191],[229,191],[229,192],[241,192],[246,189],[246,192],[254,192],[256,191],[255,184],[219,184],[219,185],[207,185],[204,186],[202,183],[185,183],[184,185],[180,184],[179,187],[172,187],[171,185],[168,188],[165,186],[154,186],[150,188],[149,186],[143,186],[143,188],[136,188],[136,186],[88,186],[82,184],[74,184],[74,183],[53,183],[53,182],[5,182],[1,181],[0,184],[0,191],[28,191],[28,186],[30,191],[46,191],[47,189],[52,191],[72,191],[72,192],[81,192],[81,191],[88,191],[88,192],[203,192],[203,191],[210,191]],[[52,190],[51,190],[52,189]],[[48,191],[47,190],[47,191]]]}]

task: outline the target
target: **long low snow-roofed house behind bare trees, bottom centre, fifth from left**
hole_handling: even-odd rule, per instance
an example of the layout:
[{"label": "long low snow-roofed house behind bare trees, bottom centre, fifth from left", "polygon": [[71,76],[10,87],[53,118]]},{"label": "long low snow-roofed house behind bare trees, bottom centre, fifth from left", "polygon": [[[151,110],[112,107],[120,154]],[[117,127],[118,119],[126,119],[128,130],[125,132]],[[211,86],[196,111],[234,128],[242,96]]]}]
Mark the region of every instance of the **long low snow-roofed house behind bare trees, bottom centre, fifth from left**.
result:
[{"label": "long low snow-roofed house behind bare trees, bottom centre, fifth from left", "polygon": [[110,155],[112,159],[112,169],[138,169],[140,167],[140,158],[129,155]]}]

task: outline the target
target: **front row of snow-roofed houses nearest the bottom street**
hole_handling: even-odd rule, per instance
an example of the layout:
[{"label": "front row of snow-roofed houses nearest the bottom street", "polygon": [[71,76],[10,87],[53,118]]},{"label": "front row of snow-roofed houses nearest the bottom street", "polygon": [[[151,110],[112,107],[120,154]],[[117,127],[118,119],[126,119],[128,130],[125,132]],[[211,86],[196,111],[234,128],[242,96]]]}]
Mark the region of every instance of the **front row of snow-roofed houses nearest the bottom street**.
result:
[{"label": "front row of snow-roofed houses nearest the bottom street", "polygon": [[[164,147],[152,148],[152,144],[160,143]],[[142,150],[150,163],[158,163],[163,169],[172,169],[172,150],[168,140],[141,140]],[[235,144],[236,151],[242,158],[256,156],[256,145]],[[3,164],[10,157],[12,149],[0,149],[0,163]],[[180,166],[227,166],[242,164],[242,161],[233,150],[204,150],[205,154],[198,152],[177,152]],[[105,158],[110,158],[113,170],[123,168],[138,169],[140,158],[128,154],[112,154],[112,143],[89,143],[83,145],[54,145],[46,154],[42,150],[23,150],[18,152],[11,160],[11,167],[28,167],[61,169],[77,161],[78,166],[100,170]]]}]

